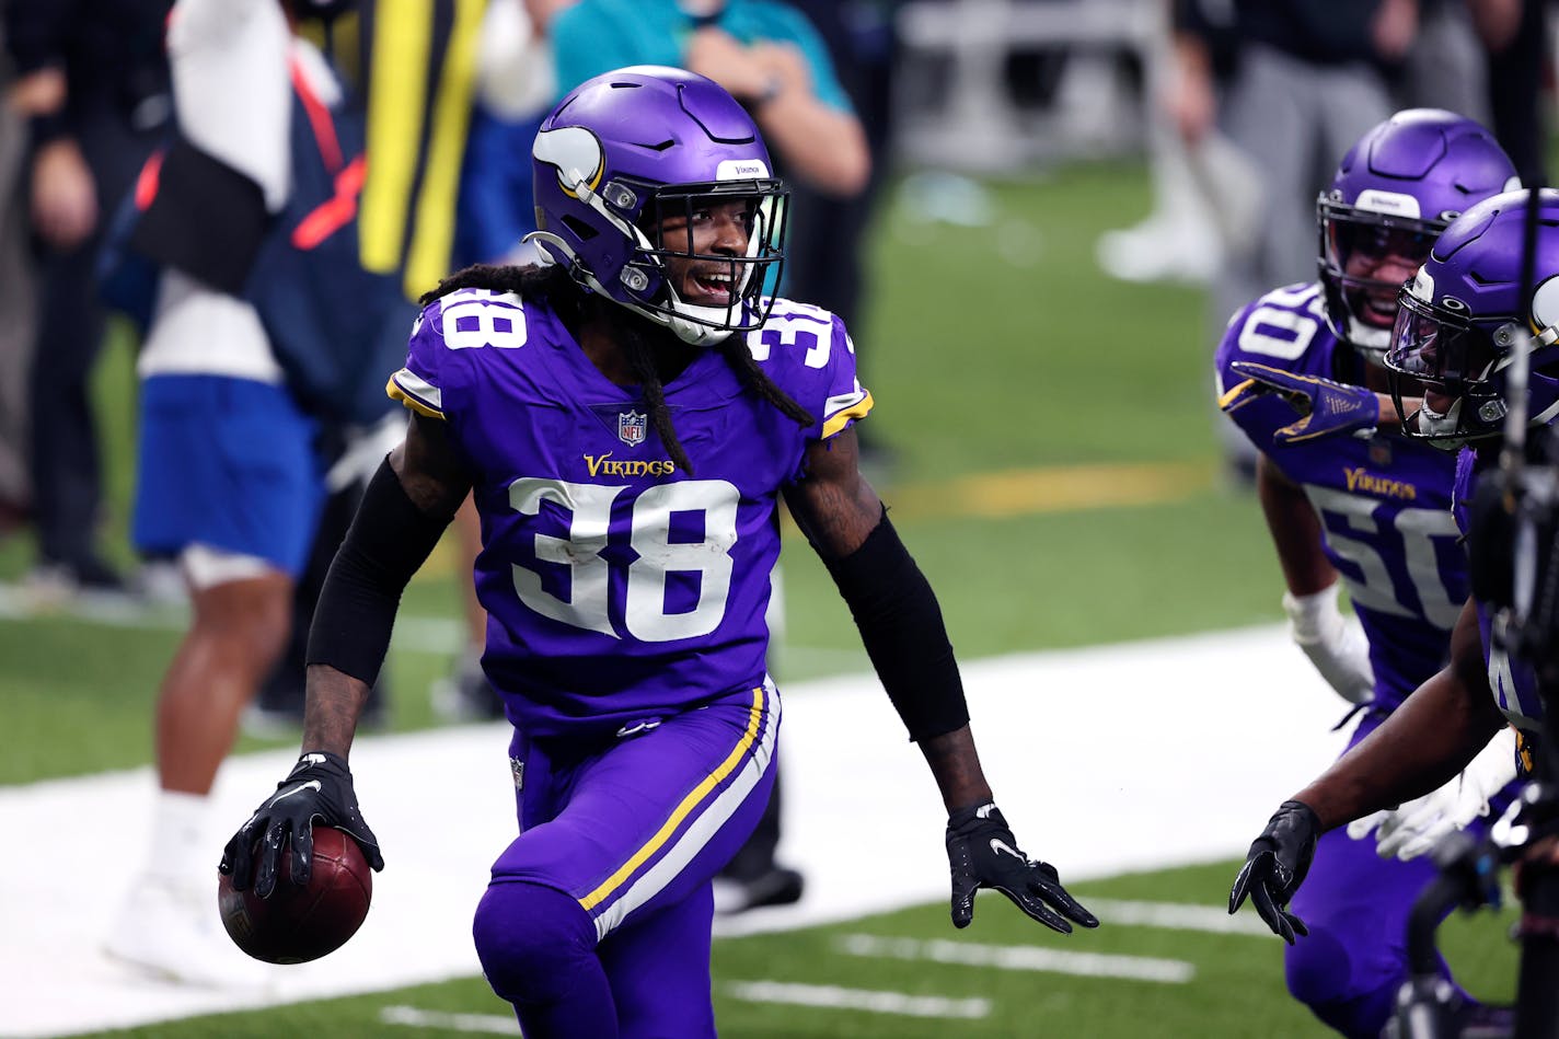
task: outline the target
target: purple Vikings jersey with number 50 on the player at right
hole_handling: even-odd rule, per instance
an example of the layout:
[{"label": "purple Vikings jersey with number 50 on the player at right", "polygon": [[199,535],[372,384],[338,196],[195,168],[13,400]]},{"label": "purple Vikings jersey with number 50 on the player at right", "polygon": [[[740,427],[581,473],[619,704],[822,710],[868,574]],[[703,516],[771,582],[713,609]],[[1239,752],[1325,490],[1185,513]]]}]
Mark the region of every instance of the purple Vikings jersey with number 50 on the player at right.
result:
[{"label": "purple Vikings jersey with number 50 on the player at right", "polygon": [[[1319,284],[1275,289],[1228,323],[1218,346],[1218,390],[1239,384],[1235,360],[1336,379],[1361,363],[1327,328]],[[1394,708],[1445,661],[1467,599],[1467,557],[1451,516],[1455,459],[1394,434],[1296,445],[1274,434],[1299,415],[1277,395],[1230,415],[1250,441],[1305,488],[1369,638],[1375,699]]]}]

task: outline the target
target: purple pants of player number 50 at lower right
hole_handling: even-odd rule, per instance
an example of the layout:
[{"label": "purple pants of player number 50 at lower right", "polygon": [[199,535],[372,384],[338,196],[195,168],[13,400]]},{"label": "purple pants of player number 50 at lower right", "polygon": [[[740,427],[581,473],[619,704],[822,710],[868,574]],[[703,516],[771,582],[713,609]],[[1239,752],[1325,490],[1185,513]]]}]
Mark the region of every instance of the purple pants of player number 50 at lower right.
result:
[{"label": "purple pants of player number 50 at lower right", "polygon": [[[1349,749],[1384,719],[1384,713],[1367,711]],[[1490,816],[1467,827],[1470,836],[1481,839],[1487,833],[1508,803],[1508,794],[1497,799]],[[1409,975],[1408,914],[1434,875],[1428,856],[1403,863],[1377,855],[1373,833],[1361,841],[1352,839],[1347,827],[1324,835],[1310,874],[1289,905],[1310,927],[1310,936],[1285,953],[1288,991],[1294,998],[1344,1036],[1377,1039]],[[1450,980],[1444,959],[1441,975]]]}]

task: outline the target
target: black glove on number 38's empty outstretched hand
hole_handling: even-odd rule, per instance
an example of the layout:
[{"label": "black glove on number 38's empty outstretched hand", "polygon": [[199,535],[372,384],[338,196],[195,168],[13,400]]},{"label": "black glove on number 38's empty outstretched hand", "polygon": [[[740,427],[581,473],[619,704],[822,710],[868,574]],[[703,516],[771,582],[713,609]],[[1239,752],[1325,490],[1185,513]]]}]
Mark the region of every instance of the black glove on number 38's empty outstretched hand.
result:
[{"label": "black glove on number 38's empty outstretched hand", "polygon": [[974,919],[974,892],[981,888],[999,891],[1062,934],[1071,934],[1066,920],[1099,927],[1098,917],[1062,888],[1054,866],[1018,850],[1018,839],[993,803],[960,808],[948,817],[948,864],[953,867],[953,927],[968,927]]}]

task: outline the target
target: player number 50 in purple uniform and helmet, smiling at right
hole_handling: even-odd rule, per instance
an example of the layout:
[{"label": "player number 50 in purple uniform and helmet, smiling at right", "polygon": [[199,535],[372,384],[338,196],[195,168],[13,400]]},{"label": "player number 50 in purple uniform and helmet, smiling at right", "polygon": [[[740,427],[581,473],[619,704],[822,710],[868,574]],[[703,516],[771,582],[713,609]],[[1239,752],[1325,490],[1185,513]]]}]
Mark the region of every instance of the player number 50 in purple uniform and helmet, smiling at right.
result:
[{"label": "player number 50 in purple uniform and helmet, smiling at right", "polygon": [[[1294,640],[1359,713],[1350,747],[1439,671],[1467,598],[1450,515],[1455,459],[1389,429],[1381,357],[1397,295],[1447,223],[1514,176],[1478,123],[1439,109],[1397,112],[1349,150],[1316,203],[1319,281],[1250,303],[1218,348],[1221,404],[1260,452],[1257,490]],[[1338,610],[1339,585],[1358,627]],[[1465,802],[1459,822],[1487,814],[1514,758],[1497,741],[1439,794]],[[1417,819],[1425,807],[1412,808]],[[1405,817],[1381,824],[1388,858],[1341,830],[1322,838],[1296,900],[1311,941],[1288,950],[1288,988],[1342,1034],[1378,1036],[1409,973],[1403,933],[1434,866],[1395,856],[1425,842]]]}]

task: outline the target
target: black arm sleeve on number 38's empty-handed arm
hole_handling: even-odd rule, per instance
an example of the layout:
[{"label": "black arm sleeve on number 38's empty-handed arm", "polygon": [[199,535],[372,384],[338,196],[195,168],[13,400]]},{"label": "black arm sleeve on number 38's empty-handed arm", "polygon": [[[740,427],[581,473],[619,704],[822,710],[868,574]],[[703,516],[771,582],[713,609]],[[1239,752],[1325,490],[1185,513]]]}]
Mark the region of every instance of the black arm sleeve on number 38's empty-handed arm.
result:
[{"label": "black arm sleeve on number 38's empty-handed arm", "polygon": [[968,724],[963,680],[937,596],[898,540],[887,509],[861,548],[825,563],[909,738],[929,739]]}]

